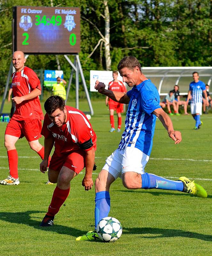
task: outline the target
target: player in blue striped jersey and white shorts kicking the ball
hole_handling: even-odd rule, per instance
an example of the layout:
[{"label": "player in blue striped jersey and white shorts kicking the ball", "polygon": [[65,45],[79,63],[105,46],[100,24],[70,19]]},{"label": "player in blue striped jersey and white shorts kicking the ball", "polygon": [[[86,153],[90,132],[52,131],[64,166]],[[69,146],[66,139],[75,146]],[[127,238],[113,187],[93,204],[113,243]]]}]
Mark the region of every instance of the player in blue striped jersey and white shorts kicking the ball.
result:
[{"label": "player in blue striped jersey and white shorts kicking the ball", "polygon": [[105,84],[96,81],[95,89],[114,101],[129,104],[126,113],[125,131],[119,147],[107,157],[106,163],[95,182],[95,230],[89,231],[79,240],[99,240],[96,227],[98,221],[108,216],[110,211],[110,185],[118,177],[122,179],[128,189],[167,189],[177,190],[195,196],[207,197],[204,188],[189,180],[180,177],[178,180],[167,180],[145,172],[145,165],[153,145],[153,135],[156,116],[166,128],[169,137],[179,144],[181,133],[175,131],[169,116],[160,107],[160,97],[157,88],[141,71],[139,61],[133,57],[124,57],[118,64],[118,70],[132,89],[125,92],[112,92],[105,89]]}]

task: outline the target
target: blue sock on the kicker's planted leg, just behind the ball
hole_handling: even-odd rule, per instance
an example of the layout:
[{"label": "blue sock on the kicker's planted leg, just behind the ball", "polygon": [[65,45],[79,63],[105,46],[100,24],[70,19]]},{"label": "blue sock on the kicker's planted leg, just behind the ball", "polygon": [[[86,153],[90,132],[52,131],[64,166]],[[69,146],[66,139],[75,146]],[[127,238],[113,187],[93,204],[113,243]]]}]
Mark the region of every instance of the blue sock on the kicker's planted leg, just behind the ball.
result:
[{"label": "blue sock on the kicker's planted leg, just behind the ball", "polygon": [[108,216],[110,212],[110,194],[108,191],[100,191],[95,197],[95,229],[99,220]]}]

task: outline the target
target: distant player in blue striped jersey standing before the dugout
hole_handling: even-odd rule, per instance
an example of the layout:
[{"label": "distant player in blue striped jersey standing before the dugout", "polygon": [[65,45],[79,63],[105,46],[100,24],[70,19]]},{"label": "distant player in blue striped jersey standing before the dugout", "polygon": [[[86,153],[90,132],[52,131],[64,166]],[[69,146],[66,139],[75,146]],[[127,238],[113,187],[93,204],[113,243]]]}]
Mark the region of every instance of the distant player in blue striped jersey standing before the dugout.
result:
[{"label": "distant player in blue striped jersey standing before the dugout", "polygon": [[204,93],[205,99],[207,99],[207,92],[205,84],[199,80],[198,72],[193,72],[193,82],[189,85],[188,97],[186,104],[191,99],[191,114],[196,121],[194,130],[200,129],[202,122],[200,121],[200,115],[202,115],[202,94]]}]

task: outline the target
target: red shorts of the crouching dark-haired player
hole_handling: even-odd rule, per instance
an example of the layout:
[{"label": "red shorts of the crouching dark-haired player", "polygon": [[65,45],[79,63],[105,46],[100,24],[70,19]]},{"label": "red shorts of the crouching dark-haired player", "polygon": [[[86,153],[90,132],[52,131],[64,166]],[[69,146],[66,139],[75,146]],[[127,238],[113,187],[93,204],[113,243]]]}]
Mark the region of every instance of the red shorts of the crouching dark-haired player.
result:
[{"label": "red shorts of the crouching dark-haired player", "polygon": [[69,154],[54,153],[51,157],[49,169],[60,171],[63,166],[66,166],[77,174],[80,173],[85,167],[85,152],[78,150]]}]

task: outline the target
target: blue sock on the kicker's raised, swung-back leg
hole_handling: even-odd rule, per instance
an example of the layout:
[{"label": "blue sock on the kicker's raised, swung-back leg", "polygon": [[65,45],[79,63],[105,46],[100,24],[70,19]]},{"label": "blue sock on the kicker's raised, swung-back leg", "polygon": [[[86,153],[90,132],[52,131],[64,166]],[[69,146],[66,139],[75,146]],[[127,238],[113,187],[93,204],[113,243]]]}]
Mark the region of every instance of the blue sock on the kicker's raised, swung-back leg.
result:
[{"label": "blue sock on the kicker's raised, swung-back leg", "polygon": [[142,188],[157,188],[167,190],[183,191],[183,182],[177,180],[167,180],[160,176],[147,173],[141,174]]}]

